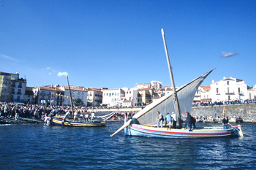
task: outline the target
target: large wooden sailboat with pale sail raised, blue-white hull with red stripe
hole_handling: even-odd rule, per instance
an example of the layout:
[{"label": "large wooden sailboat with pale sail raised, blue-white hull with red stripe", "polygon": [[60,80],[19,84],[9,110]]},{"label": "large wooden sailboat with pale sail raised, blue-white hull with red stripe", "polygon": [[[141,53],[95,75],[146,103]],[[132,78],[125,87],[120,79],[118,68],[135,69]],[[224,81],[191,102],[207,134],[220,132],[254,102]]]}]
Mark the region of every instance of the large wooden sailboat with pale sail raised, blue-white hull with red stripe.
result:
[{"label": "large wooden sailboat with pale sail raised, blue-white hull with red stripe", "polygon": [[[165,44],[165,35],[162,30],[162,37]],[[169,56],[167,53],[167,47],[165,44],[165,53],[167,56],[167,62],[170,71],[170,78],[174,85],[172,69],[170,66]],[[159,98],[157,101],[149,104],[145,109],[142,109],[133,118],[137,119],[139,124],[131,124],[131,120],[125,121],[124,125],[121,126],[114,134],[116,135],[119,131],[124,129],[124,134],[129,136],[147,136],[147,137],[163,137],[163,138],[198,138],[198,137],[219,137],[219,136],[243,136],[241,131],[241,126],[231,127],[228,129],[223,128],[197,128],[196,130],[189,131],[188,129],[181,129],[181,112],[191,112],[192,101],[195,96],[200,84],[206,79],[208,74],[213,70],[207,72],[206,74],[197,77],[195,80],[187,83],[183,87],[179,88],[177,91],[173,88],[173,94],[169,94]],[[178,115],[179,128],[172,128],[171,130],[167,128],[155,128],[154,123],[156,123],[157,112],[167,114],[167,112],[176,112]]]}]

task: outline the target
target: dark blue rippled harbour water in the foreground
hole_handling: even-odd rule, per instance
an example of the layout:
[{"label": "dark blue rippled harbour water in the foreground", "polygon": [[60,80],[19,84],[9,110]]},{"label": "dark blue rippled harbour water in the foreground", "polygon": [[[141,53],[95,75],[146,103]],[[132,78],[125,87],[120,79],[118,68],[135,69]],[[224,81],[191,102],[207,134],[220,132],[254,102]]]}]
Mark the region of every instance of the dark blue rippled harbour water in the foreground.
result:
[{"label": "dark blue rippled harbour water in the foreground", "polygon": [[122,124],[0,125],[0,169],[256,169],[256,124],[239,138],[110,137]]}]

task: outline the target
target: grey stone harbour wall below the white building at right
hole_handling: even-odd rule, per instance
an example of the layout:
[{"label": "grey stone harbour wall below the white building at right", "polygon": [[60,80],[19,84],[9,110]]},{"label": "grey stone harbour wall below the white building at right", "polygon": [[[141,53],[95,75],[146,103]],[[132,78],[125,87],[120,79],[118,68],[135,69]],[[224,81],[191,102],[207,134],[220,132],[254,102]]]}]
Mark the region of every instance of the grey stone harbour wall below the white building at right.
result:
[{"label": "grey stone harbour wall below the white building at right", "polygon": [[228,104],[206,107],[192,107],[191,115],[193,116],[217,116],[222,117],[223,107],[225,107],[225,116],[241,116],[244,120],[256,119],[256,104]]}]

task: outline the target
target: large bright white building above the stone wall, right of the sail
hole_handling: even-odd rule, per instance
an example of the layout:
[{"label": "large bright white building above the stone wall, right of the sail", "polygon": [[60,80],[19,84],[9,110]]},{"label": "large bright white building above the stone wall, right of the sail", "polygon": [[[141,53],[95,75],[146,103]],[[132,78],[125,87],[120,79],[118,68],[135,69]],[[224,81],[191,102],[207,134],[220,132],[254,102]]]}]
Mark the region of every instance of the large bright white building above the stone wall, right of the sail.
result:
[{"label": "large bright white building above the stone wall, right of the sail", "polygon": [[223,80],[211,83],[211,101],[236,101],[248,99],[247,85],[244,80],[223,77]]}]

